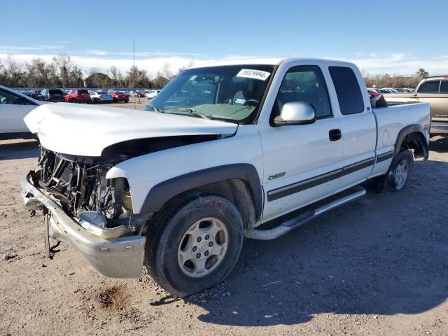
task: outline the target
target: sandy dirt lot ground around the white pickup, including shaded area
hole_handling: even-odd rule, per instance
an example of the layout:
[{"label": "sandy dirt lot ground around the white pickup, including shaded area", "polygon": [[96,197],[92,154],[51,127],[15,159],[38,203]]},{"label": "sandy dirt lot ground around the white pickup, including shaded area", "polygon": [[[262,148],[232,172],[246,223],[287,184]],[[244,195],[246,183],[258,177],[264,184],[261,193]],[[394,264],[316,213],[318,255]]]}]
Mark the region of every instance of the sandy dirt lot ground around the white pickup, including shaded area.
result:
[{"label": "sandy dirt lot ground around the white pickup, including shaded area", "polygon": [[186,300],[145,273],[107,279],[70,246],[43,255],[19,179],[35,141],[0,142],[0,335],[448,335],[448,138],[400,193],[367,194],[274,241],[244,242]]}]

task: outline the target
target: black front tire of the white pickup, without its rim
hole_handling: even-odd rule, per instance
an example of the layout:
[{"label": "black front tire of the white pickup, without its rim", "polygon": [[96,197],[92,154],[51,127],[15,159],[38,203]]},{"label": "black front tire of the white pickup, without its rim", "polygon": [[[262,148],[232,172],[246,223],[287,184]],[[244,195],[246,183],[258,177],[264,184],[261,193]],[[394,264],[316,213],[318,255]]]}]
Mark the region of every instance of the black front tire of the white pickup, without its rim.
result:
[{"label": "black front tire of the white pickup, without its rim", "polygon": [[[175,204],[179,204],[175,207]],[[181,239],[191,225],[214,217],[228,230],[228,247],[211,273],[200,278],[185,274],[178,262]],[[221,283],[235,266],[244,239],[243,220],[235,204],[217,195],[189,195],[167,204],[155,215],[146,233],[145,265],[159,286],[183,297]],[[193,250],[194,251],[194,250]]]}]

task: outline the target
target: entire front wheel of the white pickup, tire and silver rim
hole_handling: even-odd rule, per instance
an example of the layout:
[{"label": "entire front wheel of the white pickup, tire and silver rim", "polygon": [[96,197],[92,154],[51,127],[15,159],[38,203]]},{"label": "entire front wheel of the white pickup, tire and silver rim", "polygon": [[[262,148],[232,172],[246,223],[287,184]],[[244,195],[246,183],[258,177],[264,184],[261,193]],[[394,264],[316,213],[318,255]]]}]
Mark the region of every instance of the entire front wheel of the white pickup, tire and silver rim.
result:
[{"label": "entire front wheel of the white pickup, tire and silver rim", "polygon": [[167,207],[151,223],[145,265],[159,286],[183,297],[228,276],[243,244],[243,220],[221,196],[195,195],[176,203],[181,205]]}]

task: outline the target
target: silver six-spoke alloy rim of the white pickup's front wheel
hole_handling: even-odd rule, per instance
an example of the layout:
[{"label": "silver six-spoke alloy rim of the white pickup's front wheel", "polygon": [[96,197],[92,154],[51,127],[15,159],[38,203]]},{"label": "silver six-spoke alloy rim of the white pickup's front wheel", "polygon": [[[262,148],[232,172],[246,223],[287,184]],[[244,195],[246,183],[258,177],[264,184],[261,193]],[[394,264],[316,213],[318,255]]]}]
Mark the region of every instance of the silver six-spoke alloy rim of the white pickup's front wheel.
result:
[{"label": "silver six-spoke alloy rim of the white pickup's front wheel", "polygon": [[225,258],[229,233],[223,221],[202,218],[188,228],[179,244],[177,260],[182,272],[193,278],[207,276]]}]

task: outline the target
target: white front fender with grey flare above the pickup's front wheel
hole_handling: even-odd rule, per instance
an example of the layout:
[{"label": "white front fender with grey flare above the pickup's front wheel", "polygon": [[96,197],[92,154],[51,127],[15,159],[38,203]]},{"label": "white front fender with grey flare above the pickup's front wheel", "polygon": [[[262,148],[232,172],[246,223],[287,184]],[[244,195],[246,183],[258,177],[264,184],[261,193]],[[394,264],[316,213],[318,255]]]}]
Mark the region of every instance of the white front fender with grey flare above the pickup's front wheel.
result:
[{"label": "white front fender with grey flare above the pickup's front wheel", "polygon": [[106,179],[130,184],[134,214],[155,212],[186,190],[228,179],[251,187],[257,212],[262,207],[262,152],[256,125],[241,125],[234,137],[141,155],[109,169]]}]

